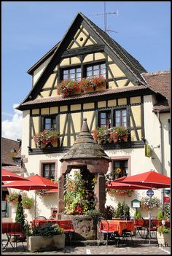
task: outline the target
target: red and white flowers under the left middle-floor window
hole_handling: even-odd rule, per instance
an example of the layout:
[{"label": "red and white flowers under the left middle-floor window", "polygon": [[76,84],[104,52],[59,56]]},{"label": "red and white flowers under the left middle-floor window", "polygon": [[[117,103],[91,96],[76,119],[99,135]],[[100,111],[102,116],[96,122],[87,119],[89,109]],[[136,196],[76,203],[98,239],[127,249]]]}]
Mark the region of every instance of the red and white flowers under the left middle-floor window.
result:
[{"label": "red and white flowers under the left middle-floor window", "polygon": [[41,131],[40,133],[36,133],[33,139],[35,141],[35,144],[38,147],[41,147],[42,145],[56,142],[59,136],[60,136],[59,131],[44,130],[44,131]]}]

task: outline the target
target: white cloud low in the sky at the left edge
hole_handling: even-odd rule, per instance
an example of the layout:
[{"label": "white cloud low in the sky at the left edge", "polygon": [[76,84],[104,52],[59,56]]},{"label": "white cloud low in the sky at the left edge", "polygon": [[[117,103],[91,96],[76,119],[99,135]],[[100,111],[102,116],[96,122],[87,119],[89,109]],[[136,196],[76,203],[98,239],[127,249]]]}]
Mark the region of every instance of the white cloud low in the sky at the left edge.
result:
[{"label": "white cloud low in the sky at the left edge", "polygon": [[15,109],[18,104],[13,104],[14,115],[12,120],[4,120],[1,125],[1,136],[7,139],[22,139],[22,112]]}]

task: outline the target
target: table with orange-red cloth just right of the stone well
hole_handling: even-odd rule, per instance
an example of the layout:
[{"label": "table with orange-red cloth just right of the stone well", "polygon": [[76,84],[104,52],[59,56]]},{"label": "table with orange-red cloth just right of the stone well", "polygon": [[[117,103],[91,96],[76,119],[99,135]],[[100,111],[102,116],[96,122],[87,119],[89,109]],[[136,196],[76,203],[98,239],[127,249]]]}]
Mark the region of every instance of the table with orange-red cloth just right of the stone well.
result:
[{"label": "table with orange-red cloth just right of the stone well", "polygon": [[[117,231],[122,236],[122,230],[130,230],[135,233],[133,220],[107,220],[109,223],[109,230]],[[106,221],[102,220],[103,225],[106,225]]]}]

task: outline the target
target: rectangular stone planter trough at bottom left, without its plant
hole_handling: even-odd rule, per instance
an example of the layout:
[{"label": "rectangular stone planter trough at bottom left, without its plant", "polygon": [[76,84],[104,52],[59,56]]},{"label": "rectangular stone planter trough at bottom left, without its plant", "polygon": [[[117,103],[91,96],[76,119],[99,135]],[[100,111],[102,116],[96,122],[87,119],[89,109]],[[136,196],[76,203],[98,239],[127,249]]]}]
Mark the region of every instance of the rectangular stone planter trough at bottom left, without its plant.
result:
[{"label": "rectangular stone planter trough at bottom left, without its plant", "polygon": [[29,252],[52,251],[52,249],[63,249],[65,247],[65,234],[55,236],[27,236]]}]

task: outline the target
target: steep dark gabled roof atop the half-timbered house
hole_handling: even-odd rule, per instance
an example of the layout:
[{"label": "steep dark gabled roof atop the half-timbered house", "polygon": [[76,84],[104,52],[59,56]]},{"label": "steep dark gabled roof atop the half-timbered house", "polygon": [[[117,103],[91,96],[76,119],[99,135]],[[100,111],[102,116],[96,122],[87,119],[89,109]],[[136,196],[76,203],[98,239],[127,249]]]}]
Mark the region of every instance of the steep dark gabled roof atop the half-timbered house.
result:
[{"label": "steep dark gabled roof atop the half-timbered house", "polygon": [[118,60],[121,61],[121,63],[127,68],[130,74],[135,77],[135,81],[138,83],[138,85],[146,85],[143,77],[141,77],[141,73],[146,72],[144,67],[141,66],[141,64],[136,61],[136,59],[133,58],[133,56],[131,56],[124,48],[122,48],[120,44],[115,42],[114,39],[112,39],[108,34],[101,30],[101,28],[98,28],[98,26],[96,26],[90,19],[88,19],[81,12],[78,12],[76,18],[74,18],[73,22],[71,23],[69,30],[63,36],[63,39],[58,42],[55,47],[52,47],[52,49],[46,55],[44,55],[42,59],[40,59],[34,66],[31,67],[31,69],[28,70],[29,74],[32,73],[34,69],[36,69],[36,67],[38,67],[43,61],[48,58],[48,56],[50,57],[50,55],[52,55],[50,62],[47,64],[42,75],[37,80],[34,88],[31,89],[31,91],[28,93],[28,96],[26,96],[23,102],[19,106],[17,106],[17,109],[21,109],[20,106],[22,106],[23,103],[25,103],[26,101],[31,101],[36,98],[36,95],[39,93],[39,91],[42,89],[42,86],[44,85],[44,80],[48,78],[48,76],[50,75],[50,71],[52,71],[58,61],[60,61],[60,56],[69,45],[69,40],[71,40],[72,36],[74,36],[74,33],[76,33],[78,24],[82,23],[83,20],[85,21],[85,23],[87,23],[87,26],[90,28],[90,30],[95,32],[99,40],[106,44],[107,47],[109,47],[111,52],[116,56]]}]

